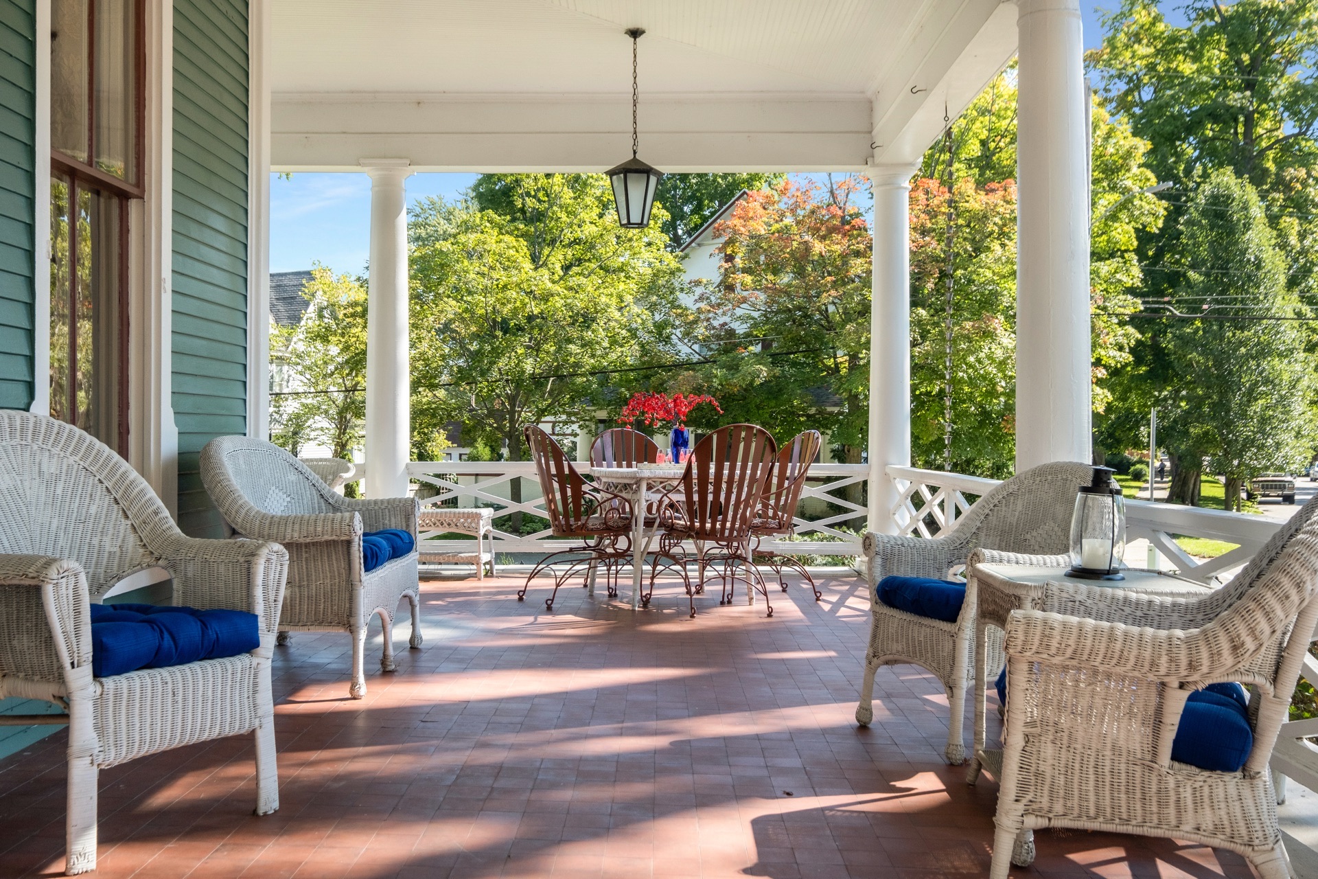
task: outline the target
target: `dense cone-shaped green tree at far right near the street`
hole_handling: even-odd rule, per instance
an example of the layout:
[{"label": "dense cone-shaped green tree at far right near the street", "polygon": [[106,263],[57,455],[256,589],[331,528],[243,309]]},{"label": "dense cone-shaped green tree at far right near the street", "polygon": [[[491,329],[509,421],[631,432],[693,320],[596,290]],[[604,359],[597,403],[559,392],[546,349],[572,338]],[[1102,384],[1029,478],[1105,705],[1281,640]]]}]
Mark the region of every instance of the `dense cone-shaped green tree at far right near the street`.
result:
[{"label": "dense cone-shaped green tree at far right near the street", "polygon": [[1307,460],[1311,373],[1293,320],[1284,260],[1257,194],[1228,169],[1198,187],[1180,224],[1182,281],[1161,344],[1177,376],[1161,394],[1169,445],[1207,453],[1226,478],[1227,509],[1246,480]]}]

